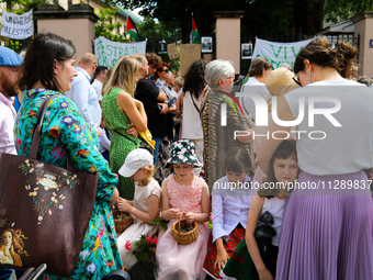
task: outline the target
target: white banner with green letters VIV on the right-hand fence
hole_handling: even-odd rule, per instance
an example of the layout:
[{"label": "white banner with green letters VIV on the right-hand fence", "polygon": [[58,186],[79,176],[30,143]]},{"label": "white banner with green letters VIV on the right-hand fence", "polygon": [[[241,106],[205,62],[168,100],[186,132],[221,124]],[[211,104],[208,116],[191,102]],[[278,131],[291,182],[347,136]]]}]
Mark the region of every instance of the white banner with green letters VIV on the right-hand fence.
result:
[{"label": "white banner with green letters VIV on the right-hand fence", "polygon": [[295,57],[310,41],[313,38],[292,43],[279,43],[257,38],[252,58],[265,57],[273,68],[278,68],[283,63],[287,63],[294,68]]}]

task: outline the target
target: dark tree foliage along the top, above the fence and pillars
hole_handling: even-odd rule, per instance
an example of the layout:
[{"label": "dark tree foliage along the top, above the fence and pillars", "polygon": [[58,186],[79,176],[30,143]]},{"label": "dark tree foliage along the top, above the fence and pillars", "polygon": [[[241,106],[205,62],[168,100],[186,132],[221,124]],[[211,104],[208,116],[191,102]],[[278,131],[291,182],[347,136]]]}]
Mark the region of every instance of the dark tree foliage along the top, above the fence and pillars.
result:
[{"label": "dark tree foliage along the top, above the fence and pillars", "polygon": [[373,0],[110,1],[126,9],[142,8],[142,15],[157,18],[162,23],[177,23],[183,38],[191,31],[192,12],[200,35],[211,35],[215,30],[214,11],[245,11],[241,32],[246,34],[308,34],[319,31],[324,20],[338,22],[373,7]]}]

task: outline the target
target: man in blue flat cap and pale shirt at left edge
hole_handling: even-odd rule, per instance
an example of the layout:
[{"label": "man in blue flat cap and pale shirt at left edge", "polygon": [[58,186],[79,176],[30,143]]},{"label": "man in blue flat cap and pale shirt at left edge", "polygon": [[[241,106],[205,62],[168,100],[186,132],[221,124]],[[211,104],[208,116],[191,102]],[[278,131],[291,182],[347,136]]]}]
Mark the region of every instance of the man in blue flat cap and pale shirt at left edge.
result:
[{"label": "man in blue flat cap and pale shirt at left edge", "polygon": [[[8,47],[0,46],[0,157],[2,153],[14,154],[13,128],[15,121],[15,109],[13,97],[19,90],[16,78],[23,58]],[[13,270],[0,268],[0,279],[9,279]]]}]

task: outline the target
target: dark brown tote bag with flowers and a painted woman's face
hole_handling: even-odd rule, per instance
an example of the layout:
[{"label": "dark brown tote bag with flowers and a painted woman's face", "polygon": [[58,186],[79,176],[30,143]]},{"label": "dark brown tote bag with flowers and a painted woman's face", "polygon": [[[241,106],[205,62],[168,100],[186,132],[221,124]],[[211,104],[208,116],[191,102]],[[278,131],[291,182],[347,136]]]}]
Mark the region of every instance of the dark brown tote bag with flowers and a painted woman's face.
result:
[{"label": "dark brown tote bag with flowers and a painted woman's face", "polygon": [[36,159],[47,98],[41,107],[30,156],[0,159],[0,265],[69,276],[77,265],[91,219],[98,175]]}]

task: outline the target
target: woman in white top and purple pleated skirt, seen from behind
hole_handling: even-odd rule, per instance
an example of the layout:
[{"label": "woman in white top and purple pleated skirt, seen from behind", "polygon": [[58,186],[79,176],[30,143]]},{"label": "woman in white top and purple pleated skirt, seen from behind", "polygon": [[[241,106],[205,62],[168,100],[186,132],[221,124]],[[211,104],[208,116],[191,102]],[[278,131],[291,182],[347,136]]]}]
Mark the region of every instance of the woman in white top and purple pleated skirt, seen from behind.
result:
[{"label": "woman in white top and purple pleated skirt, seen from behind", "polygon": [[[296,143],[302,170],[296,186],[304,188],[287,200],[278,280],[373,279],[373,204],[363,171],[372,167],[373,92],[344,79],[357,54],[349,43],[330,47],[326,38],[312,41],[294,64],[303,88],[279,105],[282,121],[302,120],[304,113],[297,131],[306,133]],[[289,130],[272,123],[270,135]],[[325,137],[309,137],[310,131]],[[263,139],[257,164],[264,172],[281,142]]]}]

